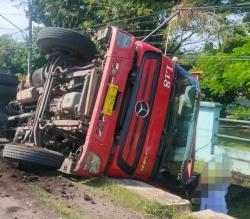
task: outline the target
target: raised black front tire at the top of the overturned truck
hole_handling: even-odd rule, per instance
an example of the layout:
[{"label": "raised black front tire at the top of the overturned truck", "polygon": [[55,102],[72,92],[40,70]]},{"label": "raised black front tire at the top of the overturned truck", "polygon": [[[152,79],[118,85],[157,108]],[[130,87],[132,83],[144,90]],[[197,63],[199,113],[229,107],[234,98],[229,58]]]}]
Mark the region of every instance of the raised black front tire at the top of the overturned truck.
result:
[{"label": "raised black front tire at the top of the overturned truck", "polygon": [[37,46],[47,54],[58,48],[73,50],[83,59],[91,60],[95,53],[95,44],[87,37],[65,28],[46,27],[37,35]]}]

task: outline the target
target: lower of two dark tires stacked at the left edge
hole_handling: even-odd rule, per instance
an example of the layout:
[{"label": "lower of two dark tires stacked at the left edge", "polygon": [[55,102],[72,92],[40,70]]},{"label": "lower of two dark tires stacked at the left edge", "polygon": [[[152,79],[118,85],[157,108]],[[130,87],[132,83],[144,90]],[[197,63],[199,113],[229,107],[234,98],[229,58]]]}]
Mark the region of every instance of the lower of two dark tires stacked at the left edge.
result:
[{"label": "lower of two dark tires stacked at the left edge", "polygon": [[17,85],[0,85],[0,104],[6,104],[16,98]]}]

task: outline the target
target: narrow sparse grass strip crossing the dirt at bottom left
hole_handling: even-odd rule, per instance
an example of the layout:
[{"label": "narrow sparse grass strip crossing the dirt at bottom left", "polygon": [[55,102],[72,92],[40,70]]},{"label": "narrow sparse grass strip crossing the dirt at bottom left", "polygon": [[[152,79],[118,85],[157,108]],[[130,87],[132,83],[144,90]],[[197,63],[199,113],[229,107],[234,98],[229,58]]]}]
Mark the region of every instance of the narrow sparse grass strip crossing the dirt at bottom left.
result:
[{"label": "narrow sparse grass strip crossing the dirt at bottom left", "polygon": [[75,210],[68,208],[62,202],[43,189],[31,186],[32,193],[48,207],[52,208],[57,214],[65,219],[82,219],[83,217]]}]

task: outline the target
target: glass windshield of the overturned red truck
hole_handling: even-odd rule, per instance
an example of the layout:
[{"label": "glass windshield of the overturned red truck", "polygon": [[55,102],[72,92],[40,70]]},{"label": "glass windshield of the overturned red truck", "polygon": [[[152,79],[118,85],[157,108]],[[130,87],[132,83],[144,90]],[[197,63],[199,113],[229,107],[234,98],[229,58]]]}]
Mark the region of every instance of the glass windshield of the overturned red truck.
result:
[{"label": "glass windshield of the overturned red truck", "polygon": [[184,69],[177,66],[176,83],[166,130],[166,170],[181,180],[192,152],[199,87]]}]

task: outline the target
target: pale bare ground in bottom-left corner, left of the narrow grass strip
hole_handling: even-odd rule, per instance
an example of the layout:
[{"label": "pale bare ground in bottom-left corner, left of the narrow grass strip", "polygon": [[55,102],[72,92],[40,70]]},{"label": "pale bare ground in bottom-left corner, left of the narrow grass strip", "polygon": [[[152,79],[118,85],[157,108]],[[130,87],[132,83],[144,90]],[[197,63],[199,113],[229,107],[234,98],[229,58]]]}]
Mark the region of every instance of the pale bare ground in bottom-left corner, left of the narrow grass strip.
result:
[{"label": "pale bare ground in bottom-left corner, left of the narrow grass strip", "polygon": [[24,186],[11,165],[0,159],[0,218],[51,218],[59,219],[52,209]]}]

